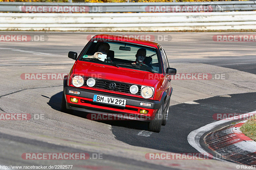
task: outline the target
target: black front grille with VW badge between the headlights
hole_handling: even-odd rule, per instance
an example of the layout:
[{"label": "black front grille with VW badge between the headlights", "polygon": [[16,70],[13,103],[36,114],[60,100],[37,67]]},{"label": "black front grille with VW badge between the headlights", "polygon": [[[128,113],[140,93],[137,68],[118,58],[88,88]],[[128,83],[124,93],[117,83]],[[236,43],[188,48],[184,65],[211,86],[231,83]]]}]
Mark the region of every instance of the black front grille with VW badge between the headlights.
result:
[{"label": "black front grille with VW badge between the headlights", "polygon": [[[86,81],[87,79],[90,77],[84,77],[84,87],[88,87],[86,85]],[[100,79],[100,78],[94,78],[95,79],[95,85],[93,86],[93,88],[98,88],[98,89],[105,89],[105,90],[111,90],[111,91],[115,91],[115,92],[124,92],[124,93],[129,93],[130,92],[130,87],[133,84],[129,84],[129,83],[122,83],[122,82],[118,82],[118,81],[112,81],[112,80],[106,80],[106,79]],[[116,88],[115,89],[111,89],[109,87],[110,83],[115,83],[116,84]],[[141,85],[137,85],[139,88],[139,91],[136,93],[136,95],[140,95],[140,89],[141,89]]]}]

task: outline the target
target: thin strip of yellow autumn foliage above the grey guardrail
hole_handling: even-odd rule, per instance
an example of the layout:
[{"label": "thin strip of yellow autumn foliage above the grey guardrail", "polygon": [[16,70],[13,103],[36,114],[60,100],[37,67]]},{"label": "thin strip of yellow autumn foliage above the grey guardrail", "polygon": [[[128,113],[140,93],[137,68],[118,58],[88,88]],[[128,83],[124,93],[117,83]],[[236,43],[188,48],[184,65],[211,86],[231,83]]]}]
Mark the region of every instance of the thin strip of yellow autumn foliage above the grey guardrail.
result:
[{"label": "thin strip of yellow autumn foliage above the grey guardrail", "polygon": [[[73,2],[127,2],[127,0],[72,0]],[[219,0],[176,0],[176,2],[202,2]],[[233,0],[225,0],[233,1]],[[0,2],[68,2],[68,0],[0,0]],[[130,0],[130,2],[173,2],[172,0]]]}]

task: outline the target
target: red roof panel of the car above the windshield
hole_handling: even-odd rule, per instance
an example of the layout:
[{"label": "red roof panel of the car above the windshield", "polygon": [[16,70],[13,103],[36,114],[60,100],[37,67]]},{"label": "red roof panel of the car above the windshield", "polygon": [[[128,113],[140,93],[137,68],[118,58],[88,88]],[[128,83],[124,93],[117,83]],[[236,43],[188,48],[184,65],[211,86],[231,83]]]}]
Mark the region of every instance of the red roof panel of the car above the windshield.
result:
[{"label": "red roof panel of the car above the windshield", "polygon": [[132,42],[136,44],[141,44],[141,45],[147,45],[151,47],[156,47],[160,44],[152,41],[146,41],[146,40],[140,40],[136,38],[130,38],[127,36],[121,36],[121,35],[110,35],[110,34],[98,34],[92,37],[92,39],[102,39],[102,40],[114,40],[114,41],[125,41],[125,42]]}]

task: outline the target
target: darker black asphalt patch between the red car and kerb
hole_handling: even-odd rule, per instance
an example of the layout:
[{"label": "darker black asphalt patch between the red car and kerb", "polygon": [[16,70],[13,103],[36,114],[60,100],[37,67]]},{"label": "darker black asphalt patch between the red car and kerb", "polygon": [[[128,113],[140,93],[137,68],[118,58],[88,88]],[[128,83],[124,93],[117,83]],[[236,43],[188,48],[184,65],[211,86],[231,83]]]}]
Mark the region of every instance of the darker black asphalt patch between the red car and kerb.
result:
[{"label": "darker black asphalt patch between the red car and kerb", "polygon": [[[215,113],[248,113],[255,111],[256,93],[233,94],[231,97],[212,97],[195,100],[199,104],[178,104],[169,109],[169,121],[159,133],[152,133],[150,137],[140,136],[140,130],[147,130],[146,126],[128,122],[124,125],[118,122],[112,126],[116,139],[125,143],[148,147],[167,152],[196,153],[189,145],[188,134],[214,120]],[[136,126],[137,125],[137,126]],[[128,128],[126,128],[128,127]],[[134,128],[136,129],[129,129]],[[138,130],[140,129],[140,130]]]}]

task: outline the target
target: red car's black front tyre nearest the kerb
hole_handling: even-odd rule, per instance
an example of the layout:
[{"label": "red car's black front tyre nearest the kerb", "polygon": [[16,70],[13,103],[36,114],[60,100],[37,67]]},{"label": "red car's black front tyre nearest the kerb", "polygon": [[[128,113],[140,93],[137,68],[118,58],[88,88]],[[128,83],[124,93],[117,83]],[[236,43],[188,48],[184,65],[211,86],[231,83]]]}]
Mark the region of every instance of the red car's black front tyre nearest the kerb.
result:
[{"label": "red car's black front tyre nearest the kerb", "polygon": [[159,133],[161,130],[163,120],[164,103],[158,109],[155,118],[148,123],[148,131]]}]

